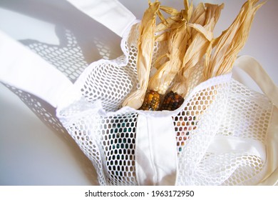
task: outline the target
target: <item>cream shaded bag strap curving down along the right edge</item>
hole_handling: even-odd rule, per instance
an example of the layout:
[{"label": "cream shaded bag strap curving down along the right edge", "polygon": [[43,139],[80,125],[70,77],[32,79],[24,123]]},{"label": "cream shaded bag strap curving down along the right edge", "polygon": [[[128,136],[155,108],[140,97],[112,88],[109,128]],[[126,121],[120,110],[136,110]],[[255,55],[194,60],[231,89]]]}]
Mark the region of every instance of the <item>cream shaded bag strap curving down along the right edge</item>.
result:
[{"label": "cream shaded bag strap curving down along the right edge", "polygon": [[267,131],[267,174],[259,184],[275,185],[278,183],[278,87],[252,56],[238,57],[235,66],[247,73],[274,105]]}]

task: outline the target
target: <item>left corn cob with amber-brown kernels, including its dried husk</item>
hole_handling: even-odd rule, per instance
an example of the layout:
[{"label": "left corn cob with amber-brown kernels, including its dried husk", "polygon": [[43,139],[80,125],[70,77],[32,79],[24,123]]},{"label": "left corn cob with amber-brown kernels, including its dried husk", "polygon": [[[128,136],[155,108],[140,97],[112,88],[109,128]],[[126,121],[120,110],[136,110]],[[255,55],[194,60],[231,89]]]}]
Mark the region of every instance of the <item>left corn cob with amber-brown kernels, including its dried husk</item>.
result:
[{"label": "left corn cob with amber-brown kernels, including its dried husk", "polygon": [[[171,24],[169,24],[172,19],[167,21],[160,11],[158,12],[158,16],[163,21],[161,24],[163,25],[158,26],[157,31],[165,31],[165,37],[163,36],[162,38],[168,39],[168,52],[162,56],[166,58],[163,64],[160,64],[158,62],[159,60],[155,61],[155,66],[158,65],[158,67],[155,67],[157,71],[150,77],[148,82],[149,92],[145,94],[143,106],[140,108],[143,110],[159,110],[160,95],[162,96],[165,94],[175,78],[177,71],[182,68],[181,59],[186,51],[187,34],[185,33],[187,32],[187,21],[185,17],[188,15],[187,11],[183,10],[179,12],[166,6],[161,6],[160,9],[170,14],[176,21],[172,21]],[[177,101],[174,100],[174,102],[177,104]]]}]

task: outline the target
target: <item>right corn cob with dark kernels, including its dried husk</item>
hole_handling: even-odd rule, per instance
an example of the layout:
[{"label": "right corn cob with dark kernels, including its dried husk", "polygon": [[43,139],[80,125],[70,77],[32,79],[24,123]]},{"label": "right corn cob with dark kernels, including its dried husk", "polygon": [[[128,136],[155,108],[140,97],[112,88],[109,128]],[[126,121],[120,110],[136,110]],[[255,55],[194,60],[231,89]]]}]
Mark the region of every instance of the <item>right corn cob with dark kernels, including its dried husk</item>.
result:
[{"label": "right corn cob with dark kernels, including its dried husk", "polygon": [[[187,94],[188,81],[190,81],[192,69],[196,64],[200,63],[207,46],[210,45],[210,41],[212,40],[211,31],[215,27],[222,8],[223,5],[199,4],[192,14],[192,19],[188,19],[190,24],[187,24],[187,26],[196,26],[196,30],[187,29],[190,39],[187,43],[187,51],[182,58],[182,69],[177,72],[177,81],[173,84],[172,91],[166,94],[160,108],[161,110],[173,111],[182,105],[184,101],[182,97]],[[207,19],[207,21],[205,21],[205,16],[210,16],[210,20]],[[203,28],[203,33],[197,31],[198,27]],[[194,51],[194,49],[200,49],[200,51]],[[195,54],[192,54],[192,52],[195,52]]]}]

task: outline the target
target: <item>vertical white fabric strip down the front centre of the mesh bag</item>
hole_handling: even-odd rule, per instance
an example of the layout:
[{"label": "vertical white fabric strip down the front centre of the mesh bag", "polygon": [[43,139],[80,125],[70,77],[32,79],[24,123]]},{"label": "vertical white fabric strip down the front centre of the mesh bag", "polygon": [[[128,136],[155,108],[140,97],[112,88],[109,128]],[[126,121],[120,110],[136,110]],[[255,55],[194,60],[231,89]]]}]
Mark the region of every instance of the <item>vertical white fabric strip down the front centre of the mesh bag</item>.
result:
[{"label": "vertical white fabric strip down the front centre of the mesh bag", "polygon": [[175,185],[176,149],[171,117],[138,115],[135,169],[140,185]]}]

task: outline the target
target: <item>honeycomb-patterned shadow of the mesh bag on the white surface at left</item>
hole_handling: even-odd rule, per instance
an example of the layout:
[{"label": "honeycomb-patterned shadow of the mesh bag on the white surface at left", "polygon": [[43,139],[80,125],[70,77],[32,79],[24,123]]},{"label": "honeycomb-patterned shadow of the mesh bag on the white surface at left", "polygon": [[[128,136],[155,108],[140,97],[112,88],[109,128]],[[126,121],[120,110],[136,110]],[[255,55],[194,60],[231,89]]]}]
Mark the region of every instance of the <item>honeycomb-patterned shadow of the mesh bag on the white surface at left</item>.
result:
[{"label": "honeycomb-patterned shadow of the mesh bag on the white surface at left", "polygon": [[[88,66],[88,62],[83,56],[83,51],[81,46],[78,44],[76,36],[63,27],[57,28],[61,31],[59,36],[61,36],[61,45],[46,44],[36,40],[22,40],[21,43],[26,47],[34,51],[36,54],[41,56],[43,59],[53,64],[61,73],[68,77],[72,82],[76,81],[78,76],[83,72],[83,70]],[[101,41],[95,41],[97,43],[98,49],[105,49],[105,46]],[[107,58],[105,50],[100,51],[103,58]],[[84,174],[91,181],[91,184],[98,184],[96,181],[96,171],[93,168],[91,161],[89,161],[83,152],[80,151],[76,142],[73,141],[72,137],[68,134],[68,131],[63,127],[60,120],[56,117],[56,109],[43,99],[38,98],[34,94],[30,94],[27,91],[17,89],[14,86],[5,84],[5,86],[10,89],[14,94],[19,96],[19,99],[26,104],[26,106],[31,109],[31,111],[36,114],[38,119],[43,121],[48,128],[50,128],[54,134],[59,136],[63,141],[65,141],[68,146],[70,146],[73,156],[78,160],[81,165]]]}]

